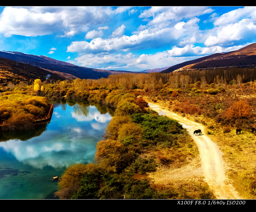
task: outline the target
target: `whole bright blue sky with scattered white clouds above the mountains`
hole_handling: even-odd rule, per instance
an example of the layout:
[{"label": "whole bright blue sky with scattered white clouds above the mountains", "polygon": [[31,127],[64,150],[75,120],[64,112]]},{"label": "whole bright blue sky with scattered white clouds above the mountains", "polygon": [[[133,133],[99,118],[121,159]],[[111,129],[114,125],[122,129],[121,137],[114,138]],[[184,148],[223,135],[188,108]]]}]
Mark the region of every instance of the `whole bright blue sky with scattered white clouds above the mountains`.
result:
[{"label": "whole bright blue sky with scattered white clouds above the mountains", "polygon": [[256,7],[0,7],[0,50],[142,71],[256,42]]}]

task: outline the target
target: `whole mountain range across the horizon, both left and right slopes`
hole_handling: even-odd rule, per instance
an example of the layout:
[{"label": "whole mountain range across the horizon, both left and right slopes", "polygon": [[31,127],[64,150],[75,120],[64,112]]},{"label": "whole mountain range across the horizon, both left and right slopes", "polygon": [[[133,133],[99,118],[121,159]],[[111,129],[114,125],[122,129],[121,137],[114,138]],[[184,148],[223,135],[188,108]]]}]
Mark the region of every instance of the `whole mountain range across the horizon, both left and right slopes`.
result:
[{"label": "whole mountain range across the horizon, both left and right slopes", "polygon": [[223,67],[255,67],[256,43],[236,51],[215,53],[177,65],[148,69],[141,72],[115,71],[87,68],[73,65],[41,55],[30,55],[16,51],[0,51],[0,83],[6,83],[13,78],[29,79],[99,79],[110,74],[120,73],[150,73],[179,72],[185,70],[214,69]]}]

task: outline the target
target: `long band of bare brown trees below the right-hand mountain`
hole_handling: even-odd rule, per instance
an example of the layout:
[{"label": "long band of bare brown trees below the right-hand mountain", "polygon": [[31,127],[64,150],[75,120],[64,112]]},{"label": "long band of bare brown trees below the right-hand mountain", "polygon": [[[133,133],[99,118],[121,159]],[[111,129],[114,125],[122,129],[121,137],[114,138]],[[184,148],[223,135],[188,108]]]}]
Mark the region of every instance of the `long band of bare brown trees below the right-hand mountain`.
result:
[{"label": "long band of bare brown trees below the right-hand mountain", "polygon": [[[160,90],[166,83],[172,88],[186,88],[190,84],[200,82],[204,88],[207,84],[216,84],[216,87],[234,84],[240,88],[241,83],[256,80],[255,68],[220,68],[180,71],[171,73],[140,73],[140,74],[114,74],[108,78],[74,80],[75,90],[92,90],[88,87],[92,83],[100,86],[118,85],[122,92],[132,89]],[[114,87],[113,87],[114,88]]]}]

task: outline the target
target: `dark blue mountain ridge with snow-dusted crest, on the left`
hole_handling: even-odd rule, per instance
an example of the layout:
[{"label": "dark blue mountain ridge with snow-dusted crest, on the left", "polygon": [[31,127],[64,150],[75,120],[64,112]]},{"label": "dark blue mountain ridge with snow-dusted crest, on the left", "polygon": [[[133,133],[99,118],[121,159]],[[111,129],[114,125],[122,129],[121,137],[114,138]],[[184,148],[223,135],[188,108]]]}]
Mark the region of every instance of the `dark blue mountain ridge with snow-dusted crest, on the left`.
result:
[{"label": "dark blue mountain ridge with snow-dusted crest, on the left", "polygon": [[107,78],[110,74],[118,73],[138,73],[129,71],[91,69],[68,62],[55,60],[44,55],[30,55],[17,51],[0,51],[0,58],[15,61],[16,64],[26,63],[38,68],[70,74],[81,79],[99,79],[101,77]]}]

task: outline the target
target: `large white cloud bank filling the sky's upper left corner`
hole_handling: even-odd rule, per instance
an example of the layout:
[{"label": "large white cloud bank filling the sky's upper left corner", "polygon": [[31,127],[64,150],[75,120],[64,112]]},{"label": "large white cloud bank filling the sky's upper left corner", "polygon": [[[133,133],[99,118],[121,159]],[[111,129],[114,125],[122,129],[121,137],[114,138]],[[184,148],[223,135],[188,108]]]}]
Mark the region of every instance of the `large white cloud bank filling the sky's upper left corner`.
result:
[{"label": "large white cloud bank filling the sky's upper left corner", "polygon": [[0,33],[43,36],[64,31],[71,37],[87,31],[89,25],[105,23],[111,14],[122,9],[111,7],[5,7],[0,15]]}]

